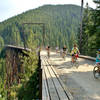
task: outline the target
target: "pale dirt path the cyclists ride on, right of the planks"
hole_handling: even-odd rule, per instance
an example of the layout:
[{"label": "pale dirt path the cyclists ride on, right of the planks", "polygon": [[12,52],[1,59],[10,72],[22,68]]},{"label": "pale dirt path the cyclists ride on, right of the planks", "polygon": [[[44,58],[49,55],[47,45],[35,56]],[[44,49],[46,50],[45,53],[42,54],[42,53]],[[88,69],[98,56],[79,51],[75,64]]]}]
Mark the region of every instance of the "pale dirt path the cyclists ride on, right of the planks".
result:
[{"label": "pale dirt path the cyclists ride on, right of the planks", "polygon": [[[41,52],[46,55],[46,52]],[[74,97],[74,100],[100,100],[100,80],[93,77],[93,65],[95,62],[79,58],[78,69],[71,66],[71,57],[65,61],[59,54],[51,53],[49,60],[59,73],[64,84]]]}]

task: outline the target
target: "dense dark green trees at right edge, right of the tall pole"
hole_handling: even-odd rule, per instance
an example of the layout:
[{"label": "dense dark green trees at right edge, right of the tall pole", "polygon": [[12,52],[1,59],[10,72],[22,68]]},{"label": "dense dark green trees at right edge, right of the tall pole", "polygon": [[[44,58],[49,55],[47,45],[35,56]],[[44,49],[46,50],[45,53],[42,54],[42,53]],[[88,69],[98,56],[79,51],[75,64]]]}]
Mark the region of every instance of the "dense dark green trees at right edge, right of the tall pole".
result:
[{"label": "dense dark green trees at right edge, right of the tall pole", "polygon": [[[100,5],[100,0],[94,0]],[[100,9],[91,9],[87,6],[83,16],[82,54],[96,56],[100,48]]]}]

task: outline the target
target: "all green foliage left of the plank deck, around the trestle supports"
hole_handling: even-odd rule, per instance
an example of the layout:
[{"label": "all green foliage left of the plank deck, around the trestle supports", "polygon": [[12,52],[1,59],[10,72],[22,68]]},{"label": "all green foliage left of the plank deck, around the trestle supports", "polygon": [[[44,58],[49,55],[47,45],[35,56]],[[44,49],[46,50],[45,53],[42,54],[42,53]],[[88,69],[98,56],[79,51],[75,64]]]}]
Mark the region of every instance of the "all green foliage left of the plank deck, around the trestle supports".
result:
[{"label": "all green foliage left of the plank deck, around the trestle supports", "polygon": [[[33,36],[32,36],[33,37]],[[31,36],[30,38],[31,39]],[[11,85],[7,86],[7,66],[5,63],[5,49],[0,54],[0,100],[32,100],[39,97],[39,73],[38,57],[35,51],[34,42],[29,40],[30,52],[23,51],[24,55],[18,53],[20,71],[15,77],[20,77],[20,84],[15,79]],[[31,47],[32,46],[32,47]],[[12,51],[10,51],[12,52]],[[9,55],[10,57],[10,55]],[[9,74],[12,71],[9,67]],[[11,77],[9,76],[9,79]],[[9,81],[9,80],[8,80]],[[21,94],[20,94],[21,93]],[[21,99],[20,99],[21,98]]]}]

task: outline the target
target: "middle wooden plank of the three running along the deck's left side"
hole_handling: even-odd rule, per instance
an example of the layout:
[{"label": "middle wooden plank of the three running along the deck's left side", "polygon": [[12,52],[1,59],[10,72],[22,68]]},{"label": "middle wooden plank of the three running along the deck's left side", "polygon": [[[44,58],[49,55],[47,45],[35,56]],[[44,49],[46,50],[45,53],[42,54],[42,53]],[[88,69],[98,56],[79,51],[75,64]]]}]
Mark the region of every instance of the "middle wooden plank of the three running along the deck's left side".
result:
[{"label": "middle wooden plank of the three running along the deck's left side", "polygon": [[43,63],[43,69],[44,69],[44,71],[46,73],[47,84],[48,84],[51,100],[60,100],[59,97],[58,97],[58,94],[56,92],[56,89],[54,87],[54,84],[53,84],[53,81],[52,81],[52,77],[50,76],[50,73],[49,73],[49,71],[48,71],[43,59],[42,59],[42,63]]}]

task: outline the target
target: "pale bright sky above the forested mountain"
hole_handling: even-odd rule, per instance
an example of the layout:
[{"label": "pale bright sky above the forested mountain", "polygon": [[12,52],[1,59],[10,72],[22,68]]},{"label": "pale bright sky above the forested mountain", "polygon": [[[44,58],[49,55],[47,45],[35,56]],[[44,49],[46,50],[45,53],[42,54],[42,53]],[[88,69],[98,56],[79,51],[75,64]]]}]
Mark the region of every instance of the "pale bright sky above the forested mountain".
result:
[{"label": "pale bright sky above the forested mountain", "polygon": [[[84,6],[87,2],[90,7],[96,7],[93,0],[84,0]],[[0,22],[46,4],[75,4],[80,6],[81,0],[0,0]]]}]

